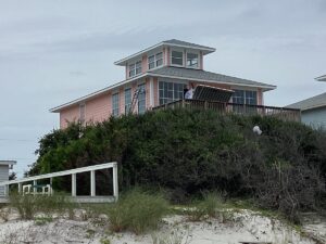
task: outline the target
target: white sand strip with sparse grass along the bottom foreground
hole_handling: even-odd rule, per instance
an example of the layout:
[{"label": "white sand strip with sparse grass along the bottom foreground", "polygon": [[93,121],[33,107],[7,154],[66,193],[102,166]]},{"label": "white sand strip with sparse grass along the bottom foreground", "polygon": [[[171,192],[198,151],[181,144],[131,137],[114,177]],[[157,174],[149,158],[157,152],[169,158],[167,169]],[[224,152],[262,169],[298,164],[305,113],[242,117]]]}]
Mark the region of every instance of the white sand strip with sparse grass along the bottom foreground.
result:
[{"label": "white sand strip with sparse grass along the bottom foreground", "polygon": [[240,241],[273,242],[275,244],[315,244],[301,236],[294,229],[278,220],[263,217],[250,210],[233,213],[231,217],[220,216],[201,222],[190,222],[185,216],[170,216],[163,219],[160,231],[145,235],[129,232],[110,233],[105,217],[102,219],[52,221],[23,221],[12,215],[0,223],[0,243],[89,243],[89,244],[152,244],[158,239],[183,239],[193,244],[236,244]]}]

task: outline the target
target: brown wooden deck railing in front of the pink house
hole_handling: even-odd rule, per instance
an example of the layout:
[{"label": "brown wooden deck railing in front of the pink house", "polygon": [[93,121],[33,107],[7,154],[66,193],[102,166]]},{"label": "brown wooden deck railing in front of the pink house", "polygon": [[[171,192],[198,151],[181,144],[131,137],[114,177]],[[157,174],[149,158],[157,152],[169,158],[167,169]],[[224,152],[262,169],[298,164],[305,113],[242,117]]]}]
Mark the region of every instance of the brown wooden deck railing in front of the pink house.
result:
[{"label": "brown wooden deck railing in front of the pink house", "polygon": [[160,106],[155,106],[152,110],[167,110],[167,108],[188,108],[188,110],[212,110],[221,114],[239,114],[239,115],[260,115],[260,116],[273,116],[287,121],[300,121],[300,110],[276,107],[276,106],[263,106],[263,105],[249,105],[239,103],[224,103],[216,101],[204,100],[177,100],[171,103],[166,103]]}]

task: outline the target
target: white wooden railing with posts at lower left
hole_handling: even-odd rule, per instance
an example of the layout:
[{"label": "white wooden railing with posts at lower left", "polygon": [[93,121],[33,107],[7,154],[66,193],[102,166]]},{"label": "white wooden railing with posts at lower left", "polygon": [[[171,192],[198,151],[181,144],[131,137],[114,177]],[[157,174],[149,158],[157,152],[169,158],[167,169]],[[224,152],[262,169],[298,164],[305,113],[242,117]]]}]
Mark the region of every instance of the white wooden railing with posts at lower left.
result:
[{"label": "white wooden railing with posts at lower left", "polygon": [[[90,197],[96,196],[96,170],[100,169],[108,169],[112,168],[113,170],[113,196],[114,200],[117,201],[118,198],[118,182],[117,182],[117,163],[112,162],[112,163],[106,163],[106,164],[101,164],[101,165],[92,165],[92,166],[87,166],[83,168],[75,168],[75,169],[70,169],[70,170],[64,170],[64,171],[58,171],[58,172],[51,172],[51,174],[46,174],[46,175],[40,175],[40,176],[33,176],[33,177],[26,177],[23,179],[17,179],[17,180],[9,180],[9,181],[2,181],[0,182],[0,187],[5,187],[5,196],[9,195],[9,185],[12,184],[18,184],[18,192],[22,193],[22,187],[24,183],[32,182],[34,185],[37,185],[38,180],[43,180],[43,179],[50,179],[50,182],[52,182],[52,178],[57,177],[63,177],[63,176],[72,176],[72,196],[76,197],[76,189],[77,189],[77,181],[76,181],[76,174],[80,172],[90,172]],[[34,191],[37,189],[35,188]]]}]

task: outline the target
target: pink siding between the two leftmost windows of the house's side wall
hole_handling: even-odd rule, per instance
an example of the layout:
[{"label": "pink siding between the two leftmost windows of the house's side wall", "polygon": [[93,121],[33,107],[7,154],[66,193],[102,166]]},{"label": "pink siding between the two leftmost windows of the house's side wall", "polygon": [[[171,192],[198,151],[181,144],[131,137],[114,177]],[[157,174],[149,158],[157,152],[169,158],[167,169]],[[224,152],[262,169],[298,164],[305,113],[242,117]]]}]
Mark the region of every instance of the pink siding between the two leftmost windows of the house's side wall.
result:
[{"label": "pink siding between the two leftmost windows of the house's side wall", "polygon": [[108,93],[86,101],[86,121],[103,121],[111,115],[111,95]]}]

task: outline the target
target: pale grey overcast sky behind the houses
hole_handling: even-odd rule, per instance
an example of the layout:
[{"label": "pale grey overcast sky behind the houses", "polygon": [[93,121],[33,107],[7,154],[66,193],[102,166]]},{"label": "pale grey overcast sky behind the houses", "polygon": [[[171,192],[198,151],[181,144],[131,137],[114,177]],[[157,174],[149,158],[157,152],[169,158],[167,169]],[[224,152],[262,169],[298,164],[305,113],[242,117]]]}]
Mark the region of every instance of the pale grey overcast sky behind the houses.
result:
[{"label": "pale grey overcast sky behind the houses", "polygon": [[0,159],[22,175],[49,108],[124,79],[113,62],[162,40],[216,48],[204,69],[276,85],[284,106],[326,84],[326,0],[0,0]]}]

